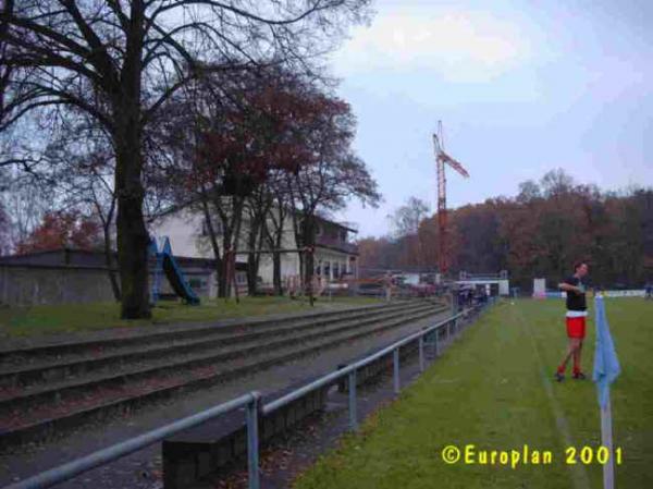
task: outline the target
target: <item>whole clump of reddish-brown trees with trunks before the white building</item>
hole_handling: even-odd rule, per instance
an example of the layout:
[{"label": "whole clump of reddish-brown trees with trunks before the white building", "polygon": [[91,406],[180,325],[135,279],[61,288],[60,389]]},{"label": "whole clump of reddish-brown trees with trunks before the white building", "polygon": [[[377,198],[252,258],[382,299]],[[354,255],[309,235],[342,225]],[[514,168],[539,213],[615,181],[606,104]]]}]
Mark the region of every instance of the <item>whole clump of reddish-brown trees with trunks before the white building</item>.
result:
[{"label": "whole clump of reddish-brown trees with trunks before the white building", "polygon": [[[350,147],[349,106],[306,77],[282,70],[208,72],[171,106],[167,120],[161,140],[176,155],[169,169],[178,183],[176,205],[204,216],[220,296],[231,291],[238,253],[247,254],[251,294],[261,252],[272,255],[281,292],[287,218],[299,249],[307,249],[315,246],[317,212],[340,209],[349,197],[379,199],[375,182]],[[312,256],[297,253],[310,283]]]}]

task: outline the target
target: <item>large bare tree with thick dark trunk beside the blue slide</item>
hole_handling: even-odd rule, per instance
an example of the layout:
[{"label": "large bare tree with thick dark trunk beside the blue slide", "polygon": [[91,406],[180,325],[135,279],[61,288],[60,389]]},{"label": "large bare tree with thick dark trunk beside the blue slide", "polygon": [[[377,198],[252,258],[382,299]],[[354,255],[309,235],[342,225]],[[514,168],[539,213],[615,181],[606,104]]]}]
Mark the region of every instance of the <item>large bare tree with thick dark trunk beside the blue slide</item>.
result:
[{"label": "large bare tree with thick dark trunk beside the blue slide", "polygon": [[[115,157],[123,318],[151,316],[144,219],[144,133],[200,65],[315,64],[367,0],[5,0],[0,131],[33,112],[93,117]],[[7,161],[13,160],[9,155]]]}]

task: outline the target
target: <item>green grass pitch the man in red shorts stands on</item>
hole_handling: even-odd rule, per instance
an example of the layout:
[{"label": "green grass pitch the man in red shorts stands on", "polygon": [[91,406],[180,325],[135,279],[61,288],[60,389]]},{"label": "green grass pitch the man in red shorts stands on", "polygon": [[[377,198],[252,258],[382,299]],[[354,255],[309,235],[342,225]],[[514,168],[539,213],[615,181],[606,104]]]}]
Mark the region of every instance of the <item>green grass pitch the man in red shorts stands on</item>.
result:
[{"label": "green grass pitch the man in red shorts stands on", "polygon": [[[401,398],[343,438],[295,489],[601,488],[602,466],[566,464],[568,445],[600,444],[591,380],[552,380],[566,343],[562,302],[504,302],[488,311]],[[606,299],[621,376],[613,384],[615,487],[653,487],[653,302]],[[593,311],[583,352],[591,374]],[[549,465],[447,465],[446,445],[552,452]],[[586,452],[587,453],[587,452]],[[478,455],[477,455],[478,460]]]}]

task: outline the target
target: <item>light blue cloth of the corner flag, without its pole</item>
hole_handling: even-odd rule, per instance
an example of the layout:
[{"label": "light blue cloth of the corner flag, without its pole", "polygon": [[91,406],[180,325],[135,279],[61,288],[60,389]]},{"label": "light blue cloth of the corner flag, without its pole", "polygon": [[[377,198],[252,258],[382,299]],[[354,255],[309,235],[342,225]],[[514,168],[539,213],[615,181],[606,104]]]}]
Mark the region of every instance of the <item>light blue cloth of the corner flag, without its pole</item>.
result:
[{"label": "light blue cloth of the corner flag, without its pole", "polygon": [[596,320],[596,350],[594,351],[594,372],[592,379],[599,390],[599,404],[605,407],[609,399],[609,384],[617,378],[621,368],[615,352],[615,344],[609,334],[609,325],[605,316],[603,297],[594,298],[594,314]]}]

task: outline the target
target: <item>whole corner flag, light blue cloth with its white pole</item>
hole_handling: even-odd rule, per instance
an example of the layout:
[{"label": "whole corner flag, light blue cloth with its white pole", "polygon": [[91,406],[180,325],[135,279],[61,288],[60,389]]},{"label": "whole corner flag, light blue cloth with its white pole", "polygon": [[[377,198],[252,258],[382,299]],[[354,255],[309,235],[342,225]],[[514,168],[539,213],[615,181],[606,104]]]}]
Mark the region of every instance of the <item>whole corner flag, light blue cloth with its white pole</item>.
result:
[{"label": "whole corner flag, light blue cloth with its white pole", "polygon": [[594,351],[594,371],[592,379],[596,383],[599,405],[601,406],[601,444],[608,450],[609,459],[603,465],[603,489],[614,489],[615,475],[612,442],[612,407],[609,402],[609,384],[619,376],[621,368],[615,352],[615,344],[609,334],[609,326],[605,316],[603,296],[594,298],[596,318],[596,349]]}]

